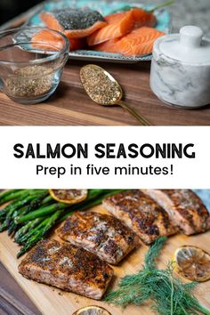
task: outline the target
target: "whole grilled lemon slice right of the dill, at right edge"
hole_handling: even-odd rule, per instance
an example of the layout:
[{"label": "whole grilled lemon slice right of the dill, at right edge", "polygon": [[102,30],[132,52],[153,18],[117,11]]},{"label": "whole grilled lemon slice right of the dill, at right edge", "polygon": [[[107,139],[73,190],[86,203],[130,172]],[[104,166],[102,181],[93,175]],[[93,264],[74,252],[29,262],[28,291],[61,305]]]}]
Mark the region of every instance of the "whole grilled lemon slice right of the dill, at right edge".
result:
[{"label": "whole grilled lemon slice right of the dill, at right edge", "polygon": [[182,246],[174,254],[175,270],[191,281],[210,279],[210,254],[196,246]]}]

